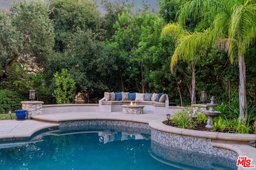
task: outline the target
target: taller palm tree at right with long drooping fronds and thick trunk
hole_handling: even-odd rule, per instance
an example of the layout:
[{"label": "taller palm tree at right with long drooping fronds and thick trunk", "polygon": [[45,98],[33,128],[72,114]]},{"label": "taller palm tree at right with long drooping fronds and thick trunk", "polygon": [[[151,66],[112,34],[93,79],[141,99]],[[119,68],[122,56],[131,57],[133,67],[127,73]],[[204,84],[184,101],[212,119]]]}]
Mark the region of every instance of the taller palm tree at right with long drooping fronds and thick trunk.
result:
[{"label": "taller palm tree at right with long drooping fronds and thick trunk", "polygon": [[[243,3],[240,1],[192,0],[186,2],[178,13],[180,27],[184,27],[188,17],[208,18],[213,21],[214,27],[200,33],[194,32],[186,35],[186,32],[183,32],[182,35],[176,36],[176,48],[179,46],[182,48],[177,49],[178,58],[174,52],[172,61],[184,60],[188,57],[193,59],[194,52],[192,51],[196,51],[200,46],[217,45],[219,49],[226,50],[231,63],[239,65],[239,119],[244,122],[247,116],[244,53],[254,43],[256,37],[256,1],[244,0]],[[162,30],[163,35],[172,35],[168,32],[169,25]],[[184,38],[190,40],[186,41],[187,44],[181,45],[185,43],[182,41]]]}]

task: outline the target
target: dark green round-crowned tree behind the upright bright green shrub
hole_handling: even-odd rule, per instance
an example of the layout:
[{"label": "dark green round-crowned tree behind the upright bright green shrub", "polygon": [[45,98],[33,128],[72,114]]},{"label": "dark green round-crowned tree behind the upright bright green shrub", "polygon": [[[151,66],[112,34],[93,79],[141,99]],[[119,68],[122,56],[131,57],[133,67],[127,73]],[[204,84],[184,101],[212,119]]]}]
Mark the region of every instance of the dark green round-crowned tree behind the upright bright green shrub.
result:
[{"label": "dark green round-crowned tree behind the upright bright green shrub", "polygon": [[96,40],[92,31],[79,29],[70,40],[66,52],[56,53],[49,60],[48,76],[50,77],[54,70],[67,69],[70,77],[76,82],[76,93],[101,97],[101,91],[116,83],[117,63],[112,48]]}]

